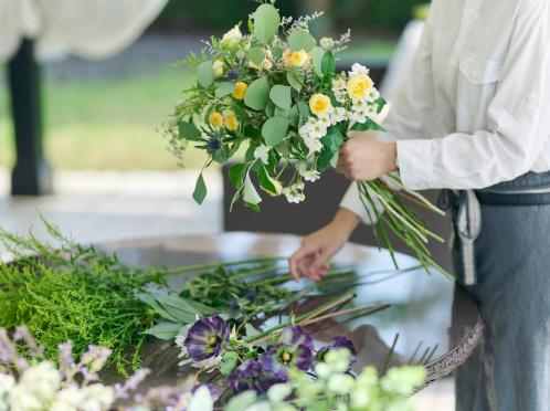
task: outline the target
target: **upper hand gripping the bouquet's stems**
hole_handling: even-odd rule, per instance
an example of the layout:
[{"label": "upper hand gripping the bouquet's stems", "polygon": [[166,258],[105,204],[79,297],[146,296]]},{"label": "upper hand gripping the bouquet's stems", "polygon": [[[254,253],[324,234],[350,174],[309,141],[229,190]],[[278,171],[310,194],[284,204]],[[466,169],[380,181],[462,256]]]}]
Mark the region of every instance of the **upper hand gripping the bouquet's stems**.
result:
[{"label": "upper hand gripping the bouquet's stems", "polygon": [[340,148],[336,170],[352,181],[372,181],[395,171],[396,144],[379,141],[373,131],[362,135],[364,137],[351,138]]}]

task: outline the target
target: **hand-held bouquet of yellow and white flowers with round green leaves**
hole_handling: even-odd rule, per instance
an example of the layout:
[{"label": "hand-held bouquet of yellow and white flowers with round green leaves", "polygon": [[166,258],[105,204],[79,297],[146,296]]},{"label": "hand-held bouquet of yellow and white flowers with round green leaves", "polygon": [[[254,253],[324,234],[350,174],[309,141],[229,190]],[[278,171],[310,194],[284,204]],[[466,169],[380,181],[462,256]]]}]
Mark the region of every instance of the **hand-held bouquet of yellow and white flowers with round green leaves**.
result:
[{"label": "hand-held bouquet of yellow and white flowers with round green leaves", "polygon": [[[338,159],[352,130],[383,130],[373,119],[385,101],[369,70],[353,64],[337,72],[337,54],[347,46],[349,31],[339,39],[317,41],[310,23],[321,13],[297,20],[281,18],[273,3],[261,3],[250,15],[244,35],[240,24],[222,39],[205,42],[202,55],[191,53],[179,63],[197,73],[197,85],[183,91],[166,135],[172,152],[182,158],[189,144],[213,162],[235,162],[230,179],[239,200],[258,211],[260,192],[305,200],[306,182],[315,182]],[[242,150],[241,150],[242,149]],[[237,154],[244,151],[243,156]],[[285,179],[285,170],[290,177]],[[390,186],[391,187],[390,187]],[[390,250],[388,232],[403,240],[422,264],[436,265],[426,247],[427,230],[403,199],[441,212],[395,176],[358,182],[361,199],[377,221],[377,236]],[[193,198],[207,197],[202,171]]]}]

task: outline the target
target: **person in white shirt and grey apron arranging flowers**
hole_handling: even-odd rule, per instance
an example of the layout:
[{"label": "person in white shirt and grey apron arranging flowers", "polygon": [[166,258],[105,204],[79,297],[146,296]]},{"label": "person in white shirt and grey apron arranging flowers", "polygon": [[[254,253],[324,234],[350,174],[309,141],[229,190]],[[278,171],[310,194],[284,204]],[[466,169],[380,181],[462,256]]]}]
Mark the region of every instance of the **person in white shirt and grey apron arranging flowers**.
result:
[{"label": "person in white shirt and grey apron arranging flowers", "polygon": [[[550,2],[434,0],[384,128],[350,139],[337,169],[445,189],[457,281],[486,320],[456,375],[457,409],[550,410]],[[371,215],[353,183],[290,257],[293,276],[325,276]]]}]

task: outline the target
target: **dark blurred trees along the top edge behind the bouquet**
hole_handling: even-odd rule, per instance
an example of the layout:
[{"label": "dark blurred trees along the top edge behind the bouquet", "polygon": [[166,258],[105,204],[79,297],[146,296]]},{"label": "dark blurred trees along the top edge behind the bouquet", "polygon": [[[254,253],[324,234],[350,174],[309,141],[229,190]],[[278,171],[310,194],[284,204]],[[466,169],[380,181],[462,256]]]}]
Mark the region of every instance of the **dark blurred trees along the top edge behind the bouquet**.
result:
[{"label": "dark blurred trees along the top edge behind the bouquet", "polygon": [[[429,0],[277,0],[284,15],[325,11],[320,30],[345,30],[356,33],[370,30],[400,32],[411,20],[413,9]],[[177,31],[230,29],[236,21],[245,22],[255,7],[253,0],[170,0],[157,21],[157,28]]]}]

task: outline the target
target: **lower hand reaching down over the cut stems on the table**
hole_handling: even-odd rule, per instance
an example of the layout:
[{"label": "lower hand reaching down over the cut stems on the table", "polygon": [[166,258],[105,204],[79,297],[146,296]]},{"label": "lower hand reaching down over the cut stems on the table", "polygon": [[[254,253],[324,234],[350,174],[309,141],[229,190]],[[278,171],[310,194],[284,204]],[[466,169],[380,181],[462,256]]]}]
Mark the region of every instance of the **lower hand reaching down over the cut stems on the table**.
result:
[{"label": "lower hand reaching down over the cut stems on the table", "polygon": [[346,244],[359,221],[351,211],[340,209],[332,222],[305,236],[300,247],[288,260],[290,276],[296,282],[300,274],[313,281],[322,280],[330,271],[328,261]]}]

